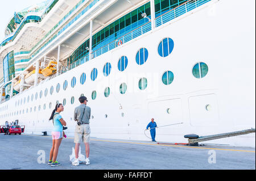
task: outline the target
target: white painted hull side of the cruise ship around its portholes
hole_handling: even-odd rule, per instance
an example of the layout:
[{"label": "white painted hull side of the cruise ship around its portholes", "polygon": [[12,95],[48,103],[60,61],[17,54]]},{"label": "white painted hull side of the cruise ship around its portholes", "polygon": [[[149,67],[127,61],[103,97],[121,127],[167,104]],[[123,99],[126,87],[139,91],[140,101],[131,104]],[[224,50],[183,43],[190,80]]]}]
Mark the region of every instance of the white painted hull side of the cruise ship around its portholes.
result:
[{"label": "white painted hull side of the cruise ship around its portholes", "polygon": [[[67,121],[67,135],[73,136],[76,126],[73,111],[80,104],[79,96],[84,94],[92,109],[92,137],[150,141],[144,136],[144,129],[152,117],[159,127],[184,123],[157,129],[156,140],[162,142],[187,142],[184,135],[189,133],[205,136],[255,128],[254,5],[254,1],[245,1],[241,8],[240,1],[231,0],[207,3],[3,103],[2,106],[8,104],[6,113],[21,112],[8,120],[18,119],[20,125],[26,125],[25,132],[29,134],[51,133],[53,125],[49,117],[56,100],[62,103],[65,98],[67,104],[61,115]],[[162,58],[158,45],[164,37],[174,40],[174,50],[170,56]],[[135,61],[139,48],[148,50],[148,60],[141,66]],[[121,56],[128,58],[128,66],[123,72],[118,70]],[[106,62],[112,65],[108,77],[102,73]],[[204,78],[193,77],[192,68],[197,62],[208,65],[209,71]],[[98,69],[96,81],[90,79],[93,68]],[[162,75],[167,70],[174,73],[174,81],[168,86],[162,82]],[[84,85],[80,84],[82,73],[86,74]],[[77,80],[74,88],[71,87],[73,77]],[[142,91],[138,82],[143,77],[147,78],[148,86]],[[64,91],[65,80],[68,87]],[[127,84],[124,95],[119,92],[123,82]],[[57,83],[60,83],[59,93],[56,93]],[[49,94],[51,86],[54,87],[52,95]],[[110,87],[111,92],[108,98],[104,96],[106,87]],[[41,99],[15,107],[18,100],[36,92],[39,95],[46,88],[47,97],[43,94]],[[94,90],[97,91],[96,100],[92,100]],[[74,104],[71,104],[72,96]],[[51,108],[49,103],[52,103]],[[46,110],[43,110],[44,104]],[[210,111],[205,110],[207,104],[211,106]],[[1,119],[0,123],[6,120]],[[149,132],[147,135],[150,136]],[[207,142],[255,147],[255,133]]]}]

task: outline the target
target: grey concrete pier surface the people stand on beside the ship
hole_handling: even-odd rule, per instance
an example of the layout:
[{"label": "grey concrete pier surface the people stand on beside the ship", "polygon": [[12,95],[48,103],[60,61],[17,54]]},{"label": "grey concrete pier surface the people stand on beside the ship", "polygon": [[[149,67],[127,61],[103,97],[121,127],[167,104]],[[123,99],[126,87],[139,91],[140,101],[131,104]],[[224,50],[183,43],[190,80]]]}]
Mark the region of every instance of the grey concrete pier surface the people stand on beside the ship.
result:
[{"label": "grey concrete pier surface the people stand on beside the ship", "polygon": [[[190,170],[255,169],[255,148],[204,145],[163,145],[150,141],[91,138],[90,165],[72,166],[69,155],[75,148],[73,138],[61,142],[57,161],[47,165],[51,136],[0,134],[1,170]],[[43,153],[45,162],[42,162]],[[85,155],[85,146],[81,144]]]}]

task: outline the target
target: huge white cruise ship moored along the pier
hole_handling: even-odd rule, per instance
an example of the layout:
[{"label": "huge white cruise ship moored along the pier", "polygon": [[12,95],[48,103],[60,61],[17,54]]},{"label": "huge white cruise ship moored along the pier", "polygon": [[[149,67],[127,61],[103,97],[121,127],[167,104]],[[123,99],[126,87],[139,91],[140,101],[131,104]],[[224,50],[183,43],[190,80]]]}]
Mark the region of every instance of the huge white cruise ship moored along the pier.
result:
[{"label": "huge white cruise ship moored along the pier", "polygon": [[[10,19],[1,125],[51,134],[62,103],[73,136],[84,95],[92,137],[151,141],[151,118],[161,142],[255,128],[254,0],[47,0]],[[255,133],[208,143],[255,148]]]}]

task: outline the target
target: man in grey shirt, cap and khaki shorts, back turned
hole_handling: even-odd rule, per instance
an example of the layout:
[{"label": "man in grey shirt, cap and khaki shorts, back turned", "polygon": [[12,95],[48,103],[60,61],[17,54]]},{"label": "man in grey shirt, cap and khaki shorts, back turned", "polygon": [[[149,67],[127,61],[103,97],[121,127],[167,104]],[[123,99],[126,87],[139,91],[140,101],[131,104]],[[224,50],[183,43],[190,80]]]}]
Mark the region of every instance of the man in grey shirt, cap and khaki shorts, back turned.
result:
[{"label": "man in grey shirt, cap and khaki shorts, back turned", "polygon": [[90,107],[87,106],[87,98],[85,96],[81,96],[79,98],[79,102],[81,103],[80,106],[75,108],[74,112],[74,120],[77,121],[76,129],[75,129],[75,138],[74,142],[76,144],[75,146],[75,154],[76,159],[72,163],[73,166],[79,165],[79,147],[81,142],[84,142],[85,144],[85,152],[86,152],[86,165],[90,164],[89,160],[89,141],[90,141]]}]

